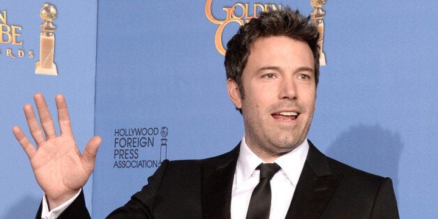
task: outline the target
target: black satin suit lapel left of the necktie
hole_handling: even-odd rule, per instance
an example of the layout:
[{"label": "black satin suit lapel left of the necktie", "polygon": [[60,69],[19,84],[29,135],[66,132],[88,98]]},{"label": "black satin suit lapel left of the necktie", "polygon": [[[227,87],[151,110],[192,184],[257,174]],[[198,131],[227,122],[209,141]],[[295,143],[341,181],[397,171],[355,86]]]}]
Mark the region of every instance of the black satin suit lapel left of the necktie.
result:
[{"label": "black satin suit lapel left of the necktie", "polygon": [[202,163],[203,218],[231,218],[231,195],[239,146]]}]

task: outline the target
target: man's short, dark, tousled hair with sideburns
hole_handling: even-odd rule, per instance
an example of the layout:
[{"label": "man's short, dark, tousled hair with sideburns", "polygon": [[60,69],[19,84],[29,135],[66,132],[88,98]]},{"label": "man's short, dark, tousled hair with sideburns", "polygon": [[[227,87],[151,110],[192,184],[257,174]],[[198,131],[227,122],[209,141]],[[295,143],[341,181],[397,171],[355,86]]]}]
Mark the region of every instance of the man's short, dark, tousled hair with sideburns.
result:
[{"label": "man's short, dark, tousled hair with sideburns", "polygon": [[240,27],[236,35],[227,43],[225,53],[225,71],[227,79],[231,78],[239,85],[241,97],[244,97],[241,76],[255,40],[268,36],[289,36],[308,43],[315,61],[315,84],[319,78],[319,33],[309,17],[304,17],[299,10],[269,10],[252,18],[250,22]]}]

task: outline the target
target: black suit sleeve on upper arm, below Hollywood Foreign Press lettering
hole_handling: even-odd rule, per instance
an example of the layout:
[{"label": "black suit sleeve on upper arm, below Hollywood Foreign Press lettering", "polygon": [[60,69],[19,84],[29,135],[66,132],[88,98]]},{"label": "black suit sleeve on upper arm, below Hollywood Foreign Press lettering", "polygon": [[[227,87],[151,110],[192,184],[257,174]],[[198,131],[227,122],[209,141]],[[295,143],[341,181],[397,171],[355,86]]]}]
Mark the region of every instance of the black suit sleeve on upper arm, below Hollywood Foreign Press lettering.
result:
[{"label": "black suit sleeve on upper arm, below Hollywood Foreign Press lettering", "polygon": [[128,203],[110,213],[107,218],[153,218],[153,202],[160,188],[167,163],[169,160],[164,160],[157,171],[148,178],[148,184],[135,193]]}]

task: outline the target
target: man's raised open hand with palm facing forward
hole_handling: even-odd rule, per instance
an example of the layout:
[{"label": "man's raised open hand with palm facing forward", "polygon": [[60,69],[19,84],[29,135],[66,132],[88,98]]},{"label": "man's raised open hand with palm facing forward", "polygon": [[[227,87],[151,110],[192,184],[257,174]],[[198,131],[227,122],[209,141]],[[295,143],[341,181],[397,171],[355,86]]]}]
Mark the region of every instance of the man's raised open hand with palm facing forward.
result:
[{"label": "man's raised open hand with palm facing forward", "polygon": [[20,127],[14,126],[13,133],[29,156],[33,174],[45,192],[49,208],[54,209],[73,197],[88,181],[102,139],[98,136],[91,138],[81,154],[73,137],[64,97],[59,94],[55,98],[60,135],[56,135],[44,96],[36,93],[33,98],[43,130],[31,105],[24,105],[24,114],[36,147]]}]

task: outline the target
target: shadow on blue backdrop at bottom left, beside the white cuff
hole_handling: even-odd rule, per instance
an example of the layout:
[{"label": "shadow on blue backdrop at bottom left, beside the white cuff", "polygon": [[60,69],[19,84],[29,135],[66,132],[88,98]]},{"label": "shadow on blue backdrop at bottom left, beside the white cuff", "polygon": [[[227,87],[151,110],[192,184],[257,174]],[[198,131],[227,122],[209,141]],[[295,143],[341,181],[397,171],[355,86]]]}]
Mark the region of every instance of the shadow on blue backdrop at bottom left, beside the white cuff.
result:
[{"label": "shadow on blue backdrop at bottom left, beside the white cuff", "polygon": [[7,213],[5,211],[6,215],[1,216],[0,218],[35,218],[40,203],[40,198],[38,199],[31,195],[25,195],[15,204],[10,206],[9,211]]}]

